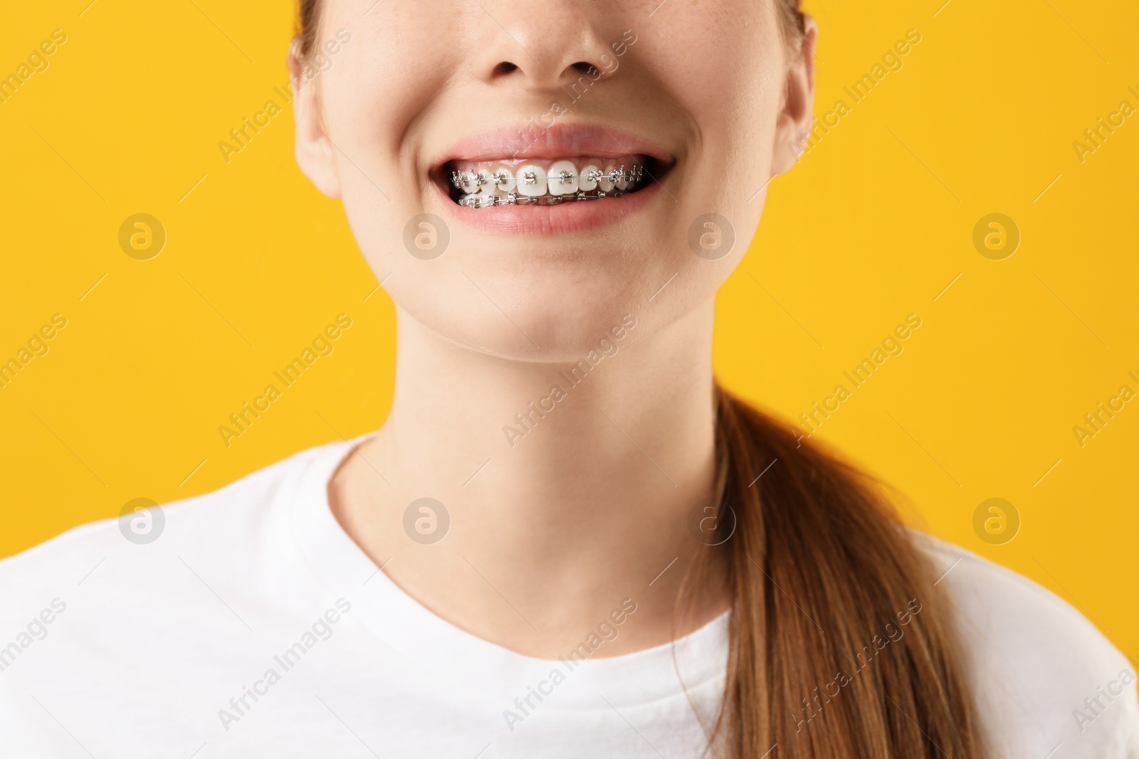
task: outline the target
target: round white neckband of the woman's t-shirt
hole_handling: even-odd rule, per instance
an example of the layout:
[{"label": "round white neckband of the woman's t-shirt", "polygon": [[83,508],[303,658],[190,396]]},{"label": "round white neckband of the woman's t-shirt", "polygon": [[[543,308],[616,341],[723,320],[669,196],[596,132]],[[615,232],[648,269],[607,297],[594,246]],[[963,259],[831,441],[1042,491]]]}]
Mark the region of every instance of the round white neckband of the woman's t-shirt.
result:
[{"label": "round white neckband of the woman's t-shirt", "polygon": [[290,501],[293,536],[313,571],[337,596],[352,603],[357,621],[404,659],[476,698],[503,704],[559,670],[565,685],[558,686],[557,698],[550,699],[546,709],[608,708],[605,702],[617,708],[636,706],[722,682],[729,612],[672,644],[568,661],[523,655],[429,611],[380,571],[329,509],[329,479],[363,439],[322,446],[300,473],[296,487],[282,497]]}]

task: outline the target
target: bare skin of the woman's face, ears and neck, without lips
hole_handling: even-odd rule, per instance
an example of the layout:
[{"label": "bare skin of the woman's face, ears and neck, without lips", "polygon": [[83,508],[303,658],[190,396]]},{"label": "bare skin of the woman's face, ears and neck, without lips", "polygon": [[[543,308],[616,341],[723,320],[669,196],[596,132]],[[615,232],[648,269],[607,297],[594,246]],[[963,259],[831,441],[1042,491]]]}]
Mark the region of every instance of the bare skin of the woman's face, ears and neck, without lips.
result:
[{"label": "bare skin of the woman's face, ears and neck, without lips", "polygon": [[[341,28],[351,42],[309,81],[290,52],[297,162],[343,201],[398,314],[392,412],[330,481],[333,512],[412,597],[533,657],[573,649],[623,599],[637,612],[597,655],[667,643],[729,603],[713,561],[691,608],[674,609],[699,548],[689,513],[713,488],[714,295],[759,224],[761,187],[804,142],[817,31],[809,19],[793,50],[769,2],[658,2],[326,0],[318,44]],[[637,41],[614,66],[626,30]],[[433,159],[548,113],[582,63],[605,75],[558,123],[655,141],[675,159],[664,191],[583,232],[464,223],[428,176]],[[737,237],[719,261],[688,246],[710,212]],[[451,234],[433,261],[403,246],[421,213]],[[624,314],[637,325],[620,350],[511,446],[503,426]],[[433,545],[403,530],[424,496],[451,517]]]}]

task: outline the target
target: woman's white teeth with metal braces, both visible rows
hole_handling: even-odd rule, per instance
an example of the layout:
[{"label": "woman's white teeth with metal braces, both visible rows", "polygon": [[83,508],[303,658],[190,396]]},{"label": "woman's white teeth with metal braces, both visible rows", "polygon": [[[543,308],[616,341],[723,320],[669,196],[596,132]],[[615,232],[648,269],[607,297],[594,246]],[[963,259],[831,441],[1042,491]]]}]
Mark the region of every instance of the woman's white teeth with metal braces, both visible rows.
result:
[{"label": "woman's white teeth with metal braces, both visible rows", "polygon": [[468,193],[459,203],[483,207],[515,203],[552,204],[566,197],[585,200],[606,197],[615,190],[628,190],[644,176],[644,167],[631,156],[623,159],[584,159],[580,170],[573,160],[566,159],[549,165],[513,163],[519,165],[495,162],[468,165],[451,172],[451,183]]}]

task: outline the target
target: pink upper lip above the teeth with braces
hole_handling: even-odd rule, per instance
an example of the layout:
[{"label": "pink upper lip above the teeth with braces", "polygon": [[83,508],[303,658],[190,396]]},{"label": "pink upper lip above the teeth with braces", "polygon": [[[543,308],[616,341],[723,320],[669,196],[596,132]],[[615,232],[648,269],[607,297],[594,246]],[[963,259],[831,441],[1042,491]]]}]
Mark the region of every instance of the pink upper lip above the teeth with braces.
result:
[{"label": "pink upper lip above the teeth with braces", "polygon": [[664,165],[672,156],[656,142],[612,126],[600,124],[525,124],[508,126],[470,137],[453,143],[434,162],[439,170],[450,160],[497,160],[510,158],[551,159],[571,156],[621,158],[646,155]]}]

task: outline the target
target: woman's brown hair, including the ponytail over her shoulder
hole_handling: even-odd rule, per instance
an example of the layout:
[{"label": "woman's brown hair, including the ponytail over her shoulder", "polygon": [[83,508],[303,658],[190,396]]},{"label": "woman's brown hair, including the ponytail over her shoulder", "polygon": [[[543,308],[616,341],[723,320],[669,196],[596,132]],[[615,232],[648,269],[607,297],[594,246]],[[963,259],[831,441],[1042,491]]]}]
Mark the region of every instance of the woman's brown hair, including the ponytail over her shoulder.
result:
[{"label": "woman's brown hair, including the ponytail over her shoulder", "polygon": [[[778,3],[797,47],[798,0]],[[300,0],[302,57],[319,14]],[[952,608],[875,485],[719,386],[715,407],[720,521],[735,533],[703,556],[722,552],[732,599],[713,745],[730,759],[985,759]]]}]

